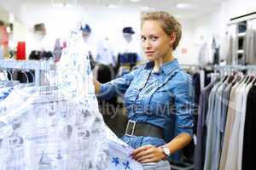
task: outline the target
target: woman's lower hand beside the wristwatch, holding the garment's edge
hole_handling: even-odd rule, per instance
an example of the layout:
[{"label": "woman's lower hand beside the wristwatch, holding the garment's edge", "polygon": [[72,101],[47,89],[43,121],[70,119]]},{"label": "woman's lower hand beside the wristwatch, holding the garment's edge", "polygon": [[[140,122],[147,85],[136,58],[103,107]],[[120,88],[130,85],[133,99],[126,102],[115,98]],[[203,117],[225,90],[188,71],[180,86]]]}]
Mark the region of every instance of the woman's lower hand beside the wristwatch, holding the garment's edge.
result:
[{"label": "woman's lower hand beside the wristwatch, holding the garment's edge", "polygon": [[161,161],[166,157],[161,147],[144,145],[131,152],[131,156],[141,163],[151,163]]}]

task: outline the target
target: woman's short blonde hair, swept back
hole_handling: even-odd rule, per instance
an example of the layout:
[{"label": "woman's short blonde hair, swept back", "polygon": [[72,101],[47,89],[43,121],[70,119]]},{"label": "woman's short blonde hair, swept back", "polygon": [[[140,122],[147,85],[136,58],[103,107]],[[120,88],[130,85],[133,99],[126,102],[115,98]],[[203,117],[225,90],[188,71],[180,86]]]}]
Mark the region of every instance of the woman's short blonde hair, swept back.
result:
[{"label": "woman's short blonde hair, swept back", "polygon": [[155,11],[143,14],[142,16],[142,26],[145,20],[159,20],[162,29],[166,32],[168,36],[172,33],[176,34],[176,40],[172,44],[172,49],[175,50],[182,37],[182,26],[180,23],[171,15],[163,11]]}]

